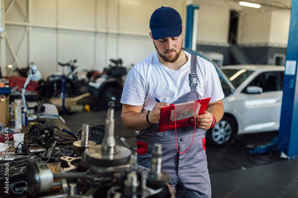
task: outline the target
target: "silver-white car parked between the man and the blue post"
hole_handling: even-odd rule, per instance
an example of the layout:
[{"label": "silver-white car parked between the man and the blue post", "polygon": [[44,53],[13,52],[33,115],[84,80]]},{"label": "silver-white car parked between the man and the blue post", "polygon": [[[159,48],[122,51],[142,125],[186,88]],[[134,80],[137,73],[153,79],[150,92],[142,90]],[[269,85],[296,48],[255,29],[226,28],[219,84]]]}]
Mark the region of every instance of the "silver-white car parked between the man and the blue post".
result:
[{"label": "silver-white car parked between the man and the blue post", "polygon": [[279,129],[284,66],[231,65],[217,70],[225,94],[224,117],[207,130],[209,145],[223,146],[240,134]]}]

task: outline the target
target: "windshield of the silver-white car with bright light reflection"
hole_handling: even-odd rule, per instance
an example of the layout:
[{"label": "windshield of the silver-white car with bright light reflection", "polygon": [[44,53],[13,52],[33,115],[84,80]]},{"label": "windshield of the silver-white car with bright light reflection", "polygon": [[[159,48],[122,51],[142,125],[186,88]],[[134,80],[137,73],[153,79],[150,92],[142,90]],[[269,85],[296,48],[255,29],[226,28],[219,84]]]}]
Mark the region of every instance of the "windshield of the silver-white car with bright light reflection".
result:
[{"label": "windshield of the silver-white car with bright light reflection", "polygon": [[221,71],[224,72],[226,77],[231,81],[235,88],[237,88],[249,75],[252,74],[253,71],[249,71],[246,69],[224,69]]}]

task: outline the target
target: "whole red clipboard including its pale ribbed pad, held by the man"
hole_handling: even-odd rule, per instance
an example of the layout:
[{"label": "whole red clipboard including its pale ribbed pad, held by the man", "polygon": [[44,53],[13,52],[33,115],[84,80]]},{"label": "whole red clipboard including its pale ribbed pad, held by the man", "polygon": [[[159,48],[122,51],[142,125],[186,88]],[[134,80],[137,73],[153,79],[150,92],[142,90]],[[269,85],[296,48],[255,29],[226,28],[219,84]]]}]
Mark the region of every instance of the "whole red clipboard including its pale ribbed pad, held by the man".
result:
[{"label": "whole red clipboard including its pale ribbed pad, held by the man", "polygon": [[[197,102],[197,108],[195,104]],[[176,128],[194,126],[190,119],[194,115],[204,114],[207,110],[210,98],[200,99],[181,104],[176,104]],[[160,109],[159,132],[175,129],[175,111],[172,106]]]}]

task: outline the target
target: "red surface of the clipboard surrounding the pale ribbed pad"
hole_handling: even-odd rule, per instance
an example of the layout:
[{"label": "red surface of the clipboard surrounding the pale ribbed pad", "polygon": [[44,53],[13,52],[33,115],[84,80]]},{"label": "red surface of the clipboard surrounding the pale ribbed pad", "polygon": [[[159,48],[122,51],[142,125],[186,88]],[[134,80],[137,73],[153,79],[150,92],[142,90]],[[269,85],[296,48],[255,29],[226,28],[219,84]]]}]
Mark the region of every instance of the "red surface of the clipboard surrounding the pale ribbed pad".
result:
[{"label": "red surface of the clipboard surrounding the pale ribbed pad", "polygon": [[[211,98],[197,100],[197,102],[198,102],[197,104],[201,104],[198,115],[205,114],[208,104],[210,102],[210,99]],[[162,107],[160,109],[159,132],[175,129],[175,121],[171,121],[172,110],[173,110],[172,105],[169,107]],[[195,111],[195,109],[193,109],[193,111]],[[184,127],[188,127],[188,126],[195,126],[194,123],[190,122],[190,119],[192,117],[193,116],[191,116],[189,118],[184,118],[181,120],[176,120],[176,128],[180,129],[180,128],[184,128]]]}]

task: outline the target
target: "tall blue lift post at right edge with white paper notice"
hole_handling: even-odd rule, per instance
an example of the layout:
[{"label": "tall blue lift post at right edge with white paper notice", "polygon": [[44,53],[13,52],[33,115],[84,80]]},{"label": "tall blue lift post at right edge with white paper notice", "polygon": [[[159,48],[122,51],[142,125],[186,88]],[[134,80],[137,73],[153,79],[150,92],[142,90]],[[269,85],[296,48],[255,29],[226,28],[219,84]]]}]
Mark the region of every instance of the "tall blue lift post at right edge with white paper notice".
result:
[{"label": "tall blue lift post at right edge with white paper notice", "polygon": [[298,0],[292,0],[291,22],[283,81],[283,103],[278,132],[278,151],[290,159],[298,158]]}]

